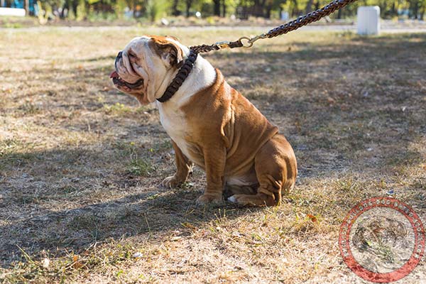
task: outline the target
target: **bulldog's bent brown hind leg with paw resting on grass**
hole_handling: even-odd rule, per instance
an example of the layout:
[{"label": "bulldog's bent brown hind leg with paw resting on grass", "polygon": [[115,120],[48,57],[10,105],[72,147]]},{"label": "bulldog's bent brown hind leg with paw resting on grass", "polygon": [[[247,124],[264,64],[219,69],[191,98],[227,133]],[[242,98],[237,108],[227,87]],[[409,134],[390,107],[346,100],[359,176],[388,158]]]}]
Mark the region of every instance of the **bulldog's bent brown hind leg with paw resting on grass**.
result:
[{"label": "bulldog's bent brown hind leg with paw resting on grass", "polygon": [[272,206],[281,202],[281,194],[290,191],[297,175],[293,148],[282,135],[265,143],[254,158],[259,182],[256,195],[237,194],[228,198],[241,206]]}]

